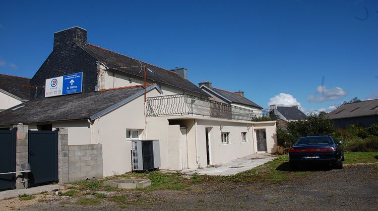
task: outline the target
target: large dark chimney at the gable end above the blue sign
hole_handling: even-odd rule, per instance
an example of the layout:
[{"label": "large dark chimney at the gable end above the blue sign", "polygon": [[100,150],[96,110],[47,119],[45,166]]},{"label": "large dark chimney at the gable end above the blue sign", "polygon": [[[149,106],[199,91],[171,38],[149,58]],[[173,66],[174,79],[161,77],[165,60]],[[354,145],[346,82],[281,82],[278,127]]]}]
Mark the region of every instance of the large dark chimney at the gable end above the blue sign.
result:
[{"label": "large dark chimney at the gable end above the blue sign", "polygon": [[64,49],[75,43],[79,46],[87,43],[87,30],[80,27],[72,27],[54,33],[53,50]]}]

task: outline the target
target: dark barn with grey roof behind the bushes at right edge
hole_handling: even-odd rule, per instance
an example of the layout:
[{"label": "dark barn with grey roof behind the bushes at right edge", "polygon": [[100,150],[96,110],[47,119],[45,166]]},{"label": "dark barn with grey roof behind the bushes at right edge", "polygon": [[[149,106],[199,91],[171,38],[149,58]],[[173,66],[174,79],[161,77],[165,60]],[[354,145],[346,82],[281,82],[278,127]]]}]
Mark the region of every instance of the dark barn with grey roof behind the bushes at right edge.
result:
[{"label": "dark barn with grey roof behind the bushes at right edge", "polygon": [[335,127],[346,128],[350,125],[370,127],[378,124],[378,99],[342,104],[325,117],[333,120]]}]

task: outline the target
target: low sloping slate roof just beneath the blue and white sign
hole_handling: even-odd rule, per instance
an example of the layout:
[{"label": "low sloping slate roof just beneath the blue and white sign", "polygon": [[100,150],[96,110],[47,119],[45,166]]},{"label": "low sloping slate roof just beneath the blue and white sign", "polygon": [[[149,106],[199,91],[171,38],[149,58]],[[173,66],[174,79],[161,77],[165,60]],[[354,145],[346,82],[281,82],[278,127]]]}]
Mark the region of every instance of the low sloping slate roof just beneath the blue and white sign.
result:
[{"label": "low sloping slate roof just beneath the blue and white sign", "polygon": [[[0,112],[0,125],[88,119],[122,100],[143,93],[143,87],[139,86],[32,99]],[[13,111],[15,108],[19,109]]]}]

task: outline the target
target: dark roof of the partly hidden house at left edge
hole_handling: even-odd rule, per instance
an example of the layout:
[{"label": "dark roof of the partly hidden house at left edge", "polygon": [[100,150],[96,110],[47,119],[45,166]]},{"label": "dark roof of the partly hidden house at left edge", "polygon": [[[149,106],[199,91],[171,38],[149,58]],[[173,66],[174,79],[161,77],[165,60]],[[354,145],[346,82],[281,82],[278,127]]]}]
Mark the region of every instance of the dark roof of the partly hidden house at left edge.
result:
[{"label": "dark roof of the partly hidden house at left edge", "polygon": [[29,85],[29,81],[30,78],[0,74],[0,89],[19,99],[28,100],[30,99],[30,88],[24,85]]}]

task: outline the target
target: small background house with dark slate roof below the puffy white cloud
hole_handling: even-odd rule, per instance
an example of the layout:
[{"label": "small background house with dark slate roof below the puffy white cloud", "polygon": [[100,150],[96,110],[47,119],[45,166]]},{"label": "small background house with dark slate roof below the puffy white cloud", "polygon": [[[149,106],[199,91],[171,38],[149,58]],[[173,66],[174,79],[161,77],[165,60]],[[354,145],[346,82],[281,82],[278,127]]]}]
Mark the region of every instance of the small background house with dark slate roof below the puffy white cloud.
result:
[{"label": "small background house with dark slate roof below the puffy white cloud", "polygon": [[277,106],[270,105],[272,110],[270,116],[272,119],[278,121],[278,127],[286,130],[287,123],[290,121],[305,120],[307,116],[298,109],[298,105],[287,106]]}]

